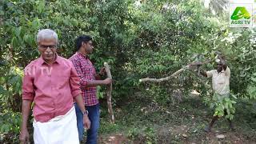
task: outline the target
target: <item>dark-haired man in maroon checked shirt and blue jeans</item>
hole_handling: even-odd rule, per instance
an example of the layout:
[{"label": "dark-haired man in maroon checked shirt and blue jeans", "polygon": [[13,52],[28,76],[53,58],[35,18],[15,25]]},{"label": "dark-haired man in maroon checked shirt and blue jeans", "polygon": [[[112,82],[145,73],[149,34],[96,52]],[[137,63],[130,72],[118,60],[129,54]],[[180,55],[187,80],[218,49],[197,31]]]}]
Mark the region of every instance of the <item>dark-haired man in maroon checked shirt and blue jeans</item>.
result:
[{"label": "dark-haired man in maroon checked shirt and blue jeans", "polygon": [[[92,38],[89,35],[79,36],[75,40],[75,44],[77,52],[70,58],[70,61],[73,62],[74,67],[78,72],[82,95],[91,122],[90,129],[87,130],[86,143],[95,144],[97,143],[99,127],[99,103],[98,98],[96,97],[96,86],[109,85],[112,81],[110,78],[101,80],[100,75],[105,74],[105,70],[102,69],[101,72],[97,74],[93,64],[90,62],[88,54],[91,54],[94,50]],[[79,140],[82,141],[82,111],[79,110],[77,105],[75,105],[75,108],[78,121]]]}]

